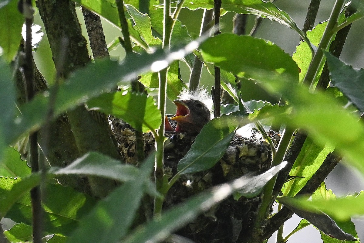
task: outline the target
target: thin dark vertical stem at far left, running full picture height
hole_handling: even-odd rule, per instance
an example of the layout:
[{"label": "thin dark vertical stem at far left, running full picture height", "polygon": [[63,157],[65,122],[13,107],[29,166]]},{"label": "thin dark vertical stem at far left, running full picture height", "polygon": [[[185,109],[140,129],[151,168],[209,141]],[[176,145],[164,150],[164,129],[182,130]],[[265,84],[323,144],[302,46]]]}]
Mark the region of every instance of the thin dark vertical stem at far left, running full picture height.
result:
[{"label": "thin dark vertical stem at far left, running full picture height", "polygon": [[[33,24],[33,8],[31,0],[23,1],[23,11],[25,16],[25,64],[24,77],[25,87],[27,90],[27,100],[30,101],[35,95],[33,82],[33,57],[32,57],[32,24]],[[38,132],[29,134],[29,162],[32,167],[32,173],[39,171],[38,156]],[[41,243],[42,238],[42,208],[40,186],[34,187],[30,191],[32,202],[32,226],[33,226],[33,242]]]}]

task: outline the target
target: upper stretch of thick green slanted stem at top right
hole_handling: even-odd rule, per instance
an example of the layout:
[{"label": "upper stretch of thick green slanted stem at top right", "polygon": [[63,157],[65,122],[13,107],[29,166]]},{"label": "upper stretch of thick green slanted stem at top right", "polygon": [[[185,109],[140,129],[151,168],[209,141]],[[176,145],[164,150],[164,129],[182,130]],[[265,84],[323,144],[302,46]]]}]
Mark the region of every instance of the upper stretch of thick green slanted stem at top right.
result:
[{"label": "upper stretch of thick green slanted stem at top right", "polygon": [[345,0],[336,0],[335,5],[332,9],[330,19],[327,23],[324,34],[321,38],[320,44],[318,45],[318,49],[316,53],[313,55],[308,70],[306,72],[306,76],[303,80],[303,83],[306,85],[312,85],[314,82],[314,78],[316,77],[316,73],[318,71],[318,67],[320,66],[321,60],[323,59],[324,53],[323,50],[326,50],[330,40],[332,38],[333,28],[337,25],[337,19],[339,18],[339,14],[341,8],[343,7]]}]

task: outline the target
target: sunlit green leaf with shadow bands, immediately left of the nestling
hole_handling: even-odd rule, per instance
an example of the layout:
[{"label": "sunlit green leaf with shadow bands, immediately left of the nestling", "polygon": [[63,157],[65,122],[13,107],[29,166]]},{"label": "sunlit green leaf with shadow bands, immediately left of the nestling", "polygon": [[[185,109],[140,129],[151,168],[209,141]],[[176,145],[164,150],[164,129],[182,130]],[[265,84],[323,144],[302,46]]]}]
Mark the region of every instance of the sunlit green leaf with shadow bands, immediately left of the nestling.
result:
[{"label": "sunlit green leaf with shadow bands, immediately left of the nestling", "polygon": [[161,125],[161,111],[155,105],[153,97],[146,94],[104,93],[87,102],[91,110],[114,115],[130,124],[139,132],[158,129]]}]

